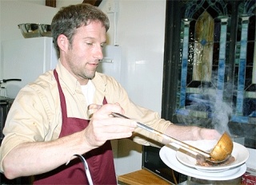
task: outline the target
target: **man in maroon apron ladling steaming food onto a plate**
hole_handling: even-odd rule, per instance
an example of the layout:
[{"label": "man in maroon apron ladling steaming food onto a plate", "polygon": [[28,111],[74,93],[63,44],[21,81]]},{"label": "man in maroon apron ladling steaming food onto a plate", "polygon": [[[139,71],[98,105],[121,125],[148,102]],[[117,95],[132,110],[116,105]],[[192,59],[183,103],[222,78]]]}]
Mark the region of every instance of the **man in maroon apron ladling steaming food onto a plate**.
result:
[{"label": "man in maroon apron ladling steaming food onto a plate", "polygon": [[[14,100],[3,130],[1,171],[7,178],[34,175],[34,183],[88,183],[83,155],[94,184],[116,184],[110,140],[131,137],[138,144],[161,137],[137,128],[125,114],[179,140],[216,139],[206,128],[180,127],[129,100],[112,77],[97,73],[109,20],[94,6],[59,10],[51,24],[59,61],[54,71],[26,85]],[[98,104],[93,116],[90,104]],[[68,164],[66,164],[69,162]]]}]

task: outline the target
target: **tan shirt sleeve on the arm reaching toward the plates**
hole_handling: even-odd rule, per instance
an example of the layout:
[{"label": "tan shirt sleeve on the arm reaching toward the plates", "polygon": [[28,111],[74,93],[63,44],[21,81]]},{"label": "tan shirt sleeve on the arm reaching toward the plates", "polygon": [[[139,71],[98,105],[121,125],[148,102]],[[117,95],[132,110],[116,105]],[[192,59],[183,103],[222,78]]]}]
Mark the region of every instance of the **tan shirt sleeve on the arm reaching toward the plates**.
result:
[{"label": "tan shirt sleeve on the arm reaching toward the plates", "polygon": [[[125,115],[131,119],[137,120],[142,124],[146,124],[159,132],[166,132],[166,128],[172,124],[168,120],[161,119],[158,112],[154,112],[148,108],[143,108],[138,104],[134,104],[130,100],[126,90],[122,88],[117,81],[112,77],[107,77],[106,80],[106,99],[108,102],[118,102],[125,110]],[[136,128],[132,136],[134,142],[143,145],[158,145],[162,143],[162,137],[154,133],[148,132],[142,128]]]}]

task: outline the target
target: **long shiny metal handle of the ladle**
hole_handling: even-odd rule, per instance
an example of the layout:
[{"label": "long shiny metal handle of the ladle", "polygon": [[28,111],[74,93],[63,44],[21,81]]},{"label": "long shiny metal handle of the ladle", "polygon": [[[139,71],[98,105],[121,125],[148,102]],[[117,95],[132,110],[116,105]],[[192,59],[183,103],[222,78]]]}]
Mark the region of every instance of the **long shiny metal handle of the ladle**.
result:
[{"label": "long shiny metal handle of the ladle", "polygon": [[[122,114],[119,114],[119,113],[117,113],[117,112],[113,112],[111,115],[114,116],[114,117],[130,119],[129,117],[123,116]],[[171,136],[167,136],[166,134],[164,134],[164,133],[162,133],[162,132],[159,132],[159,131],[155,130],[154,128],[150,128],[150,127],[147,126],[146,124],[142,124],[142,123],[140,123],[140,122],[137,121],[137,125],[138,125],[138,127],[143,128],[143,129],[145,129],[145,130],[147,130],[147,131],[149,131],[149,132],[152,132],[152,133],[154,133],[154,134],[156,134],[156,135],[158,135],[158,136],[161,136],[162,138],[164,138],[164,139],[166,139],[166,140],[170,140],[171,142],[173,142],[173,143],[175,143],[175,144],[178,144],[179,146],[182,146],[183,148],[187,148],[187,149],[189,149],[189,150],[191,150],[191,151],[197,152],[198,154],[204,155],[204,156],[206,156],[207,158],[210,157],[210,154],[209,154],[209,153],[204,152],[204,151],[200,150],[199,148],[194,148],[194,147],[191,146],[190,144],[186,144],[186,143],[184,143],[184,142],[182,142],[182,141],[180,141],[180,140],[176,140],[176,139],[174,139],[174,138],[171,137]]]}]

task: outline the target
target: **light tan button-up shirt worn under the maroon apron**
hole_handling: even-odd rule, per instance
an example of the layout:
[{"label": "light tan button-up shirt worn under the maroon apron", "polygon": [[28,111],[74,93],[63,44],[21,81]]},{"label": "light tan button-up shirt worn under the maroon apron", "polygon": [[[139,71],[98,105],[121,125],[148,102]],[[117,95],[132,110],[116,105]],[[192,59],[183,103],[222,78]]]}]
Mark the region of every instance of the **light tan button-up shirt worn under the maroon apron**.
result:
[{"label": "light tan button-up shirt worn under the maroon apron", "polygon": [[[78,81],[62,66],[60,61],[56,70],[66,97],[67,116],[88,119],[86,113],[88,104]],[[160,132],[165,132],[170,125],[170,121],[160,119],[157,112],[134,104],[129,99],[126,90],[113,77],[96,73],[92,82],[96,89],[94,104],[102,104],[105,96],[108,103],[118,102],[125,110],[126,116],[147,124]],[[6,126],[3,129],[5,137],[0,148],[1,171],[2,159],[12,148],[24,142],[58,139],[61,128],[62,110],[58,85],[53,71],[49,71],[21,89],[10,108]],[[161,137],[141,128],[136,128],[133,140],[138,144],[150,145],[150,142],[145,138],[162,142]]]}]

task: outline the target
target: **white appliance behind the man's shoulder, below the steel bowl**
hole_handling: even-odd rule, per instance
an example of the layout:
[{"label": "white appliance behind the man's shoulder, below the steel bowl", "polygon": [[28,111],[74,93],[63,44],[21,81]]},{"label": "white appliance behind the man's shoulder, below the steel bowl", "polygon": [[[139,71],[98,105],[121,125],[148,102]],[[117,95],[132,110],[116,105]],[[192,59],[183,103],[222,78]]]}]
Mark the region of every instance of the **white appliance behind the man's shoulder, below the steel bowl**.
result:
[{"label": "white appliance behind the man's shoulder, below the steel bowl", "polygon": [[14,39],[1,44],[0,76],[22,79],[5,85],[6,96],[11,98],[15,98],[22,87],[35,81],[39,75],[54,69],[58,62],[52,37]]}]

